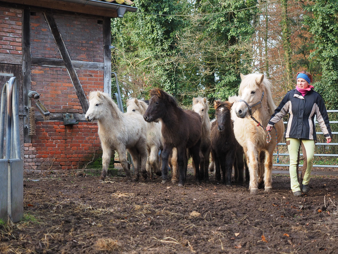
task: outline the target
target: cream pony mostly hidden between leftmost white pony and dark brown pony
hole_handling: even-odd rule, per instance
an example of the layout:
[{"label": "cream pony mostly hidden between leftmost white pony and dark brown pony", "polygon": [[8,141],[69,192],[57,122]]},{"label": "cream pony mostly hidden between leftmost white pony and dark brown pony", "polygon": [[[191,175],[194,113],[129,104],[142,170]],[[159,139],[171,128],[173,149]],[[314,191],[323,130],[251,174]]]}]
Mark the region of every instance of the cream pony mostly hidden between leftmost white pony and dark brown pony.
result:
[{"label": "cream pony mostly hidden between leftmost white pony and dark brown pony", "polygon": [[[144,115],[146,113],[148,104],[145,101],[136,98],[127,100],[127,113],[134,112],[135,114]],[[160,169],[160,155],[158,153],[163,149],[161,122],[148,122],[147,123],[147,164],[146,170],[148,176],[152,178],[153,173],[161,175]]]}]

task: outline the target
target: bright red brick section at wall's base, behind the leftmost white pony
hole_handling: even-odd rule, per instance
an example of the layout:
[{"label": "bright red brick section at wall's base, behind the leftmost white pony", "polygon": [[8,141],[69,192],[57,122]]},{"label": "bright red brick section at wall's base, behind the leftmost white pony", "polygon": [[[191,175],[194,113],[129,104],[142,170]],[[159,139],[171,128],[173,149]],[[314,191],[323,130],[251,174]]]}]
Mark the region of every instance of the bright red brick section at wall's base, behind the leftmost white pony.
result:
[{"label": "bright red brick section at wall's base, behind the leftmost white pony", "polygon": [[32,143],[25,143],[25,169],[82,169],[102,155],[95,123],[68,126],[58,121],[36,122]]}]

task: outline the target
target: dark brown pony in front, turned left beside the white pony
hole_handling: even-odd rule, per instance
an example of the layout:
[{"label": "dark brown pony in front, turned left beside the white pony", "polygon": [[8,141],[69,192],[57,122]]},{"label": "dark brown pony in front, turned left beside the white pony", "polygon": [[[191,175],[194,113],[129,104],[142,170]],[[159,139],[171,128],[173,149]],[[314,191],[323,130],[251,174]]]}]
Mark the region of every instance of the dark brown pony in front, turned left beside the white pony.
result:
[{"label": "dark brown pony in front, turned left beside the white pony", "polygon": [[161,89],[150,90],[149,106],[143,118],[147,122],[158,119],[162,122],[162,183],[167,182],[167,165],[172,149],[177,149],[178,186],[186,179],[188,158],[187,149],[192,155],[195,180],[200,181],[200,144],[202,135],[201,117],[191,111],[178,107],[175,99]]}]

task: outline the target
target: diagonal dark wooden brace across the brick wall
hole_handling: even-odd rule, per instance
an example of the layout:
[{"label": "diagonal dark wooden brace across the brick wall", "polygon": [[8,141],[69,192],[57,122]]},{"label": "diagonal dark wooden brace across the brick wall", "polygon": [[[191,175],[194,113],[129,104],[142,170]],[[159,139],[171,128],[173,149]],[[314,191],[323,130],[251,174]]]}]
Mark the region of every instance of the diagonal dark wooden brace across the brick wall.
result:
[{"label": "diagonal dark wooden brace across the brick wall", "polygon": [[44,12],[44,16],[45,16],[45,19],[46,19],[47,24],[49,26],[49,29],[51,30],[51,32],[53,34],[54,41],[55,41],[55,44],[58,48],[58,51],[60,52],[61,57],[65,62],[66,69],[68,71],[70,80],[72,81],[72,84],[74,86],[77,98],[79,99],[79,101],[81,103],[82,110],[83,110],[84,113],[86,113],[88,108],[89,108],[88,101],[87,101],[85,92],[82,88],[82,85],[81,85],[81,83],[80,83],[80,81],[77,77],[76,71],[75,71],[74,66],[72,64],[72,60],[71,60],[69,53],[67,51],[65,42],[63,41],[61,33],[59,32],[59,30],[57,28],[57,25],[56,25],[56,22],[54,20],[53,15],[51,13]]}]

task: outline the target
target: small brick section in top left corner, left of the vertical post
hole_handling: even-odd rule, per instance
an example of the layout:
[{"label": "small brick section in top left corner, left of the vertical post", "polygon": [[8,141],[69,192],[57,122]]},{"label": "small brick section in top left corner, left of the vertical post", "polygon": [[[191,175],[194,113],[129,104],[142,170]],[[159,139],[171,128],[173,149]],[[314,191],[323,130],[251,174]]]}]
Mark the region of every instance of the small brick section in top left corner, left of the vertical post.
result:
[{"label": "small brick section in top left corner, left of the vertical post", "polygon": [[0,53],[22,55],[22,10],[0,7]]}]

